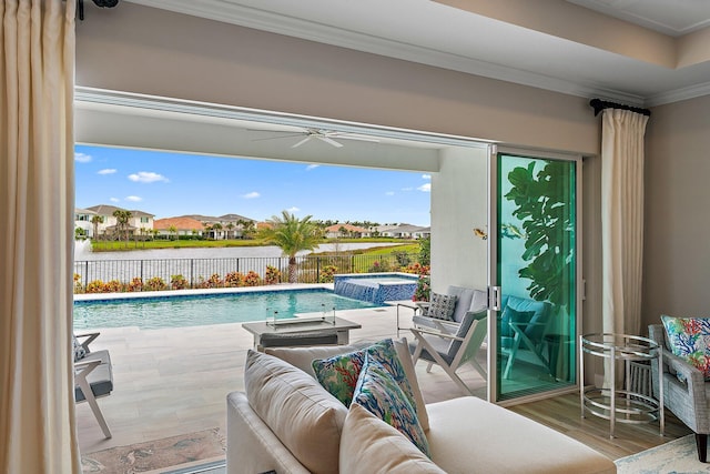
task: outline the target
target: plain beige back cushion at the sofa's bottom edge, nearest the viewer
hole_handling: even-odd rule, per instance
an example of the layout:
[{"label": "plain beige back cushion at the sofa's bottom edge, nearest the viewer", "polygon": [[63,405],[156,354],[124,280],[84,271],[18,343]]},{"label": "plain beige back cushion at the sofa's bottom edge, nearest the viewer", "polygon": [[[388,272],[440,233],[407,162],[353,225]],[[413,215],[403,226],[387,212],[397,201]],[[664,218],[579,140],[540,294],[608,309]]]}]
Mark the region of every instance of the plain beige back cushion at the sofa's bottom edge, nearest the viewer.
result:
[{"label": "plain beige back cushion at the sofa's bottom edge, nearest the viewer", "polygon": [[341,474],[445,474],[402,433],[357,403],[343,425]]}]

